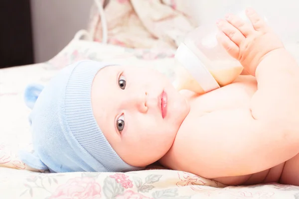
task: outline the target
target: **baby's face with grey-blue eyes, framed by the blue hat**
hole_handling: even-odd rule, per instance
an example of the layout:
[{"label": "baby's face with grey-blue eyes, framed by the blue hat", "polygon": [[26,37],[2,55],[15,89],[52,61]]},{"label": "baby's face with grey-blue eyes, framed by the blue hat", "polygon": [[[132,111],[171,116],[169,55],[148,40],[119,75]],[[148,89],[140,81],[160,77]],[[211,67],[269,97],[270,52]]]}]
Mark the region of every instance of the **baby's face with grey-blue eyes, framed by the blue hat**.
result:
[{"label": "baby's face with grey-blue eyes, framed by the blue hat", "polygon": [[185,98],[167,78],[145,67],[103,68],[93,81],[91,98],[107,140],[136,167],[159,160],[170,149],[189,112]]}]

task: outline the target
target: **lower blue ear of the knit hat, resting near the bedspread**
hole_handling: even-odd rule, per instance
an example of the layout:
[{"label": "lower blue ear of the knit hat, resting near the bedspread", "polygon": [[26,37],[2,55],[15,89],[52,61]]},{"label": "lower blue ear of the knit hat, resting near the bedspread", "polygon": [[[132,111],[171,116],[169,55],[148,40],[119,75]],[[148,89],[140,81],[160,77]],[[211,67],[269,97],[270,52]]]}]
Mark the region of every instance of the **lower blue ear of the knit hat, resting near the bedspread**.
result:
[{"label": "lower blue ear of the knit hat, resting near the bedspread", "polygon": [[35,151],[27,152],[25,150],[19,151],[19,158],[27,166],[36,170],[48,170],[48,167],[40,160]]}]

